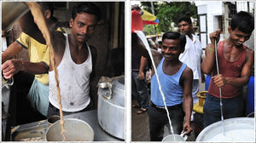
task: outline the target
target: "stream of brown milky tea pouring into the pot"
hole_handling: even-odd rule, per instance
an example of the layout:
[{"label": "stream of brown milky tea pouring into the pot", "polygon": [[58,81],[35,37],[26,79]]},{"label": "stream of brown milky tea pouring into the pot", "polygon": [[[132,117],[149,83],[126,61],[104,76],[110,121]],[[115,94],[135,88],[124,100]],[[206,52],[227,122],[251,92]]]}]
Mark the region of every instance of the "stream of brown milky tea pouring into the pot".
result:
[{"label": "stream of brown milky tea pouring into the pot", "polygon": [[57,88],[57,95],[59,100],[59,106],[60,106],[60,117],[61,117],[61,134],[63,136],[63,141],[66,140],[65,136],[65,129],[64,129],[64,122],[63,122],[63,113],[62,113],[62,106],[61,106],[61,94],[60,94],[60,87],[59,87],[59,80],[58,80],[58,72],[57,68],[55,66],[55,59],[54,59],[54,49],[51,43],[51,37],[49,33],[48,26],[46,25],[46,21],[44,20],[44,14],[41,11],[41,7],[36,2],[26,2],[27,6],[31,10],[31,13],[33,15],[34,21],[37,24],[39,30],[42,32],[44,39],[46,41],[46,44],[49,47],[49,55],[50,55],[50,62],[52,64],[52,68],[55,72],[55,83]]}]

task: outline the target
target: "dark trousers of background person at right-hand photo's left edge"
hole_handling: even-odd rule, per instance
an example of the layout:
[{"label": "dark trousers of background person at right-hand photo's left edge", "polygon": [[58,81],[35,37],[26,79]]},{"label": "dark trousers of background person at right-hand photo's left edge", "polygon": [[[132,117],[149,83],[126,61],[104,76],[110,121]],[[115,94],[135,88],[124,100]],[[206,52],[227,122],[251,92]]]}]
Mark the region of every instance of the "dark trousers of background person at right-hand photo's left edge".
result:
[{"label": "dark trousers of background person at right-hand photo's left edge", "polygon": [[148,109],[149,95],[146,80],[139,80],[138,72],[131,72],[131,94],[137,98],[137,103],[144,109]]}]

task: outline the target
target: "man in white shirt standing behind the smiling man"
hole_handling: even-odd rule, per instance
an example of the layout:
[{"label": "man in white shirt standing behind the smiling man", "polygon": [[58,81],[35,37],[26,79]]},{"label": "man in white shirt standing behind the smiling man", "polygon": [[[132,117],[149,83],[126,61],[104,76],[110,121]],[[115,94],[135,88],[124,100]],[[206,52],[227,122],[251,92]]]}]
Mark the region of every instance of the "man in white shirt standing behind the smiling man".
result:
[{"label": "man in white shirt standing behind the smiling man", "polygon": [[[201,77],[202,83],[205,82],[204,74],[201,74],[201,42],[198,37],[196,37],[193,32],[192,21],[189,17],[183,16],[177,20],[178,31],[186,35],[186,46],[183,54],[179,55],[179,60],[187,64],[189,68],[193,71],[193,82],[192,82],[192,97],[193,105],[198,102],[198,97],[196,94],[199,92],[199,78]],[[193,114],[191,116],[191,121],[193,121]]]}]

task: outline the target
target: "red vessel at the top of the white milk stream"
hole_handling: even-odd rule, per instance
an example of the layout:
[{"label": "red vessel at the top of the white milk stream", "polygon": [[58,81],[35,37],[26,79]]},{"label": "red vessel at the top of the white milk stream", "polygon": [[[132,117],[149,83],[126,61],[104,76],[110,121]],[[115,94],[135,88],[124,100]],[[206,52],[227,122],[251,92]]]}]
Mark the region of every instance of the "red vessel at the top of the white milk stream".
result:
[{"label": "red vessel at the top of the white milk stream", "polygon": [[143,19],[137,10],[131,11],[131,32],[143,31]]}]

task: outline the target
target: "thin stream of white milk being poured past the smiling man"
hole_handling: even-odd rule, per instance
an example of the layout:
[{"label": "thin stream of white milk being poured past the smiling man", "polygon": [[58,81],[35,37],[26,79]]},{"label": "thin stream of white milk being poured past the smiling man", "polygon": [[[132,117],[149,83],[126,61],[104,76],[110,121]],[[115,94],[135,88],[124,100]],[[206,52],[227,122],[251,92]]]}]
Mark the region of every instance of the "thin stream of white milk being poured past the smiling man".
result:
[{"label": "thin stream of white milk being poured past the smiling man", "polygon": [[174,134],[173,128],[172,128],[171,118],[170,118],[170,116],[169,116],[170,114],[169,114],[169,111],[168,111],[167,106],[166,106],[166,98],[165,98],[165,95],[164,95],[164,93],[163,93],[163,91],[162,91],[162,88],[161,88],[161,85],[160,85],[159,76],[158,76],[156,67],[155,67],[155,65],[154,65],[153,56],[152,56],[151,50],[150,50],[150,48],[149,48],[147,38],[145,37],[143,31],[135,31],[135,32],[137,33],[137,36],[140,37],[140,39],[142,40],[143,44],[145,45],[146,49],[148,50],[148,54],[149,54],[149,57],[150,57],[151,61],[153,61],[153,62],[152,62],[152,65],[153,65],[153,68],[154,68],[154,74],[155,74],[157,83],[159,84],[160,94],[161,94],[161,96],[162,96],[162,99],[163,99],[163,102],[164,102],[164,105],[165,105],[165,109],[166,109],[166,113],[167,113],[167,117],[168,117],[168,121],[169,121],[169,125],[170,125],[170,131],[171,131],[171,134]]}]

